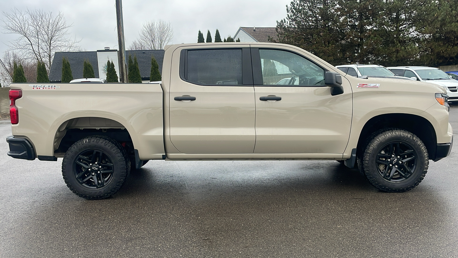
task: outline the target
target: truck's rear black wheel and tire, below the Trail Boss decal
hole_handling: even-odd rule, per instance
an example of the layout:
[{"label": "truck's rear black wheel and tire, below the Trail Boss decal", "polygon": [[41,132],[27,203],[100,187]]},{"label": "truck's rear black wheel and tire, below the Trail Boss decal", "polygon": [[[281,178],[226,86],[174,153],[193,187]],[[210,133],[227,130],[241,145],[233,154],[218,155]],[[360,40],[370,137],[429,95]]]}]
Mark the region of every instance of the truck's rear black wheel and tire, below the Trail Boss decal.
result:
[{"label": "truck's rear black wheel and tire, below the Trail Boss decal", "polygon": [[83,138],[65,152],[62,176],[68,188],[85,199],[114,195],[130,171],[125,149],[105,136]]}]

